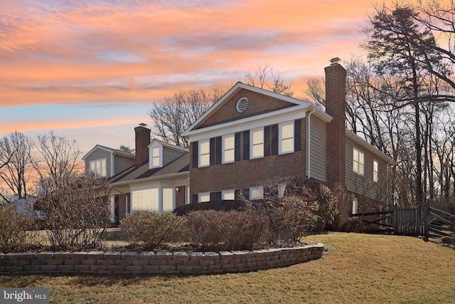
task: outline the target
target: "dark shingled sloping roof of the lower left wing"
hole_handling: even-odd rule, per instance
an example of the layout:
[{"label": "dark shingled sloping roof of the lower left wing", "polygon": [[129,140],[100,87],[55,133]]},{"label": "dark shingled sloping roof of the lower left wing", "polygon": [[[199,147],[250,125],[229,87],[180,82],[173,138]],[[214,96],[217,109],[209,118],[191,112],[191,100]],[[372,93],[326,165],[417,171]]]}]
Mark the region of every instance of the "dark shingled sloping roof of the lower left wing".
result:
[{"label": "dark shingled sloping roof of the lower left wing", "polygon": [[112,178],[112,186],[144,182],[152,179],[161,179],[190,173],[190,153],[186,152],[178,159],[166,164],[162,168],[149,169],[149,162],[133,166]]}]

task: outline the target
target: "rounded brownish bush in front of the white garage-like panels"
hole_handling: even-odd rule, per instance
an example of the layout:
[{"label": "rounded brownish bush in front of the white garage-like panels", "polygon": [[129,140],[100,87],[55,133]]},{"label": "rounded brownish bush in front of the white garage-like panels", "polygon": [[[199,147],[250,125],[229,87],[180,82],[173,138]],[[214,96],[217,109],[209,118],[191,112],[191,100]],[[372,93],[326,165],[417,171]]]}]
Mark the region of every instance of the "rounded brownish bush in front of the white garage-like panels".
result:
[{"label": "rounded brownish bush in front of the white garage-like panels", "polygon": [[183,239],[185,218],[169,213],[136,211],[120,221],[120,227],[131,243],[144,243],[146,250],[163,243]]}]

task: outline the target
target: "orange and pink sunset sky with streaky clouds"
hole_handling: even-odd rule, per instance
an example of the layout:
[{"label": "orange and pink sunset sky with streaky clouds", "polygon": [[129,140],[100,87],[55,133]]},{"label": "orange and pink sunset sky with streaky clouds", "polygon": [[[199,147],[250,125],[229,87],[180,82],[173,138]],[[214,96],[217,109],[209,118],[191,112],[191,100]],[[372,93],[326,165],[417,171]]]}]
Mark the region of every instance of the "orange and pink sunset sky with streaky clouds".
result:
[{"label": "orange and pink sunset sky with streaky clouds", "polygon": [[331,58],[360,54],[369,0],[1,0],[0,137],[53,130],[134,147],[134,127],[178,90],[228,90],[257,65],[294,97]]}]

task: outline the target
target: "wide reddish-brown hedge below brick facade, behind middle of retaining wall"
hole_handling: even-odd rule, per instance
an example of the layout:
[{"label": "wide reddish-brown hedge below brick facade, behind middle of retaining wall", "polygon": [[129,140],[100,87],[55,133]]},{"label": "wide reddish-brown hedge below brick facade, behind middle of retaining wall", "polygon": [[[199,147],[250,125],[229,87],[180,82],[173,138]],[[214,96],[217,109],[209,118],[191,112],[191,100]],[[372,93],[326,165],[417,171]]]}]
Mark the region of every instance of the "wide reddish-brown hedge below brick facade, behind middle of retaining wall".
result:
[{"label": "wide reddish-brown hedge below brick facade, behind middle of retaining wall", "polygon": [[252,249],[267,234],[267,221],[247,211],[193,211],[187,216],[189,241],[200,250]]}]

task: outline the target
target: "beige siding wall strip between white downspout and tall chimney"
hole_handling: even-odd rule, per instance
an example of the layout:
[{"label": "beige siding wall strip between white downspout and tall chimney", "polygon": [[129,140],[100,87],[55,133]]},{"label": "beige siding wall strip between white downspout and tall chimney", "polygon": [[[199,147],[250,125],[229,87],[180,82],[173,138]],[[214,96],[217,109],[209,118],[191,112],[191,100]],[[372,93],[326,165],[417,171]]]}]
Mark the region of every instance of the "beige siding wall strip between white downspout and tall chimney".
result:
[{"label": "beige siding wall strip between white downspout and tall chimney", "polygon": [[310,154],[310,177],[321,182],[326,179],[326,122],[311,115],[311,154]]}]

